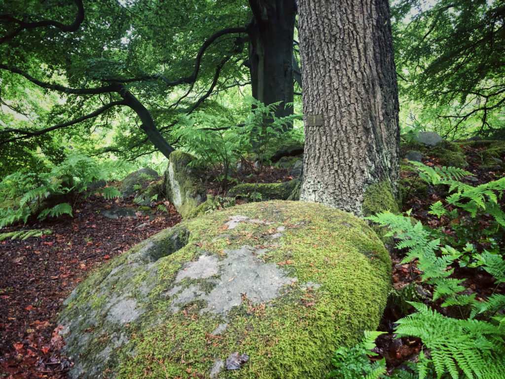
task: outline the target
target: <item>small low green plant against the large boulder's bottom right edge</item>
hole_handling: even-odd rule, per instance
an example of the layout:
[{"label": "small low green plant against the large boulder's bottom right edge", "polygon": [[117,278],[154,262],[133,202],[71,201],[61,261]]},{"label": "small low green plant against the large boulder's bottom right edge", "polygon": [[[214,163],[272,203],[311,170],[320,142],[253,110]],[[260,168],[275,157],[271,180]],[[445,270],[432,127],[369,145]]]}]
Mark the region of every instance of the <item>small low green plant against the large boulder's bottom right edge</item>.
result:
[{"label": "small low green plant against the large boulder's bottom right edge", "polygon": [[331,358],[333,369],[326,376],[327,379],[378,379],[386,372],[386,362],[381,359],[370,362],[369,355],[377,355],[373,352],[375,339],[382,331],[365,331],[365,337],[361,343],[347,348],[341,347],[335,351]]}]

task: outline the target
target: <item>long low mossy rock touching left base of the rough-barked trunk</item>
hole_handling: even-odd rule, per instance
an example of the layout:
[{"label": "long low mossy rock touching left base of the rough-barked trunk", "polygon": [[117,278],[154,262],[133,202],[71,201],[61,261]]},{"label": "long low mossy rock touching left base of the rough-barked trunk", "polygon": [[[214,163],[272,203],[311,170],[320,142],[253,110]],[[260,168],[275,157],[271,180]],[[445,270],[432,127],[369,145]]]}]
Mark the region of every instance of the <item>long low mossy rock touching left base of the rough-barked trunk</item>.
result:
[{"label": "long low mossy rock touching left base of the rough-barked trunk", "polygon": [[228,196],[262,201],[286,200],[298,182],[298,179],[293,179],[282,183],[242,183],[232,187]]}]

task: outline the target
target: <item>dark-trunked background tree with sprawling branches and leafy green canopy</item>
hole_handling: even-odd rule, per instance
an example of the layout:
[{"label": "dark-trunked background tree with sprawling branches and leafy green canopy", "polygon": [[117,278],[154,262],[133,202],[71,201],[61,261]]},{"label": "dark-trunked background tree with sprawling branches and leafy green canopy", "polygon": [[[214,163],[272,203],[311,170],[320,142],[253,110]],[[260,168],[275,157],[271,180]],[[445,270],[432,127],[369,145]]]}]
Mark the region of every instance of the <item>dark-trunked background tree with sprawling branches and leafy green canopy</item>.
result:
[{"label": "dark-trunked background tree with sprawling branches and leafy green canopy", "polygon": [[[25,3],[0,9],[1,85],[54,91],[61,104],[22,127],[2,115],[5,149],[49,132],[63,143],[86,139],[96,120],[107,130],[123,114],[129,122],[116,124],[115,143],[101,152],[168,156],[181,115],[215,107],[216,94],[251,79],[258,100],[280,103],[279,115],[292,113],[294,0]],[[12,95],[4,106],[26,105],[20,91],[3,93]]]}]

